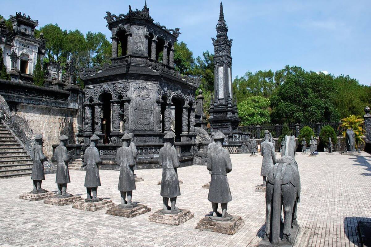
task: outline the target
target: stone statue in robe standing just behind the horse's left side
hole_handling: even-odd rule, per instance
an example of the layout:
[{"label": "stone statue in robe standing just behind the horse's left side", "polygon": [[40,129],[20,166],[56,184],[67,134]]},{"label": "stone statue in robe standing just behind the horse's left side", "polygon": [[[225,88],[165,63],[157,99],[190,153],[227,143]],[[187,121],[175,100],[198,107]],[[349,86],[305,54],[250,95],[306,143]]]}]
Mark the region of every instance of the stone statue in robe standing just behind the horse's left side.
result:
[{"label": "stone statue in robe standing just behind the horse's left side", "polygon": [[260,170],[260,176],[263,176],[262,186],[267,185],[266,178],[276,161],[275,147],[269,141],[269,138],[269,131],[264,131],[264,141],[260,144],[260,154],[263,156],[262,169]]}]

